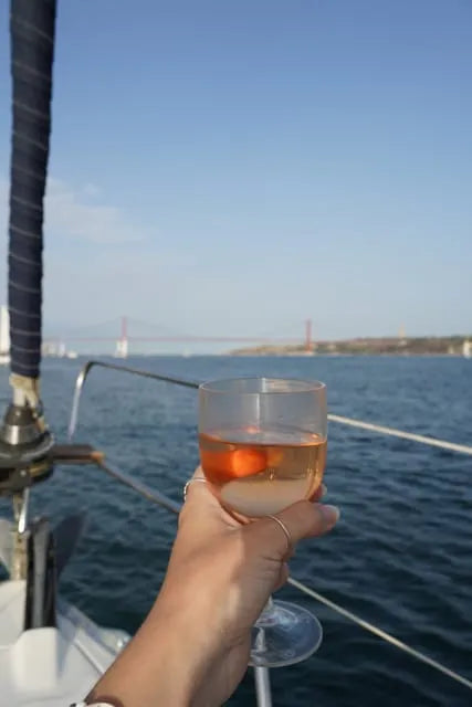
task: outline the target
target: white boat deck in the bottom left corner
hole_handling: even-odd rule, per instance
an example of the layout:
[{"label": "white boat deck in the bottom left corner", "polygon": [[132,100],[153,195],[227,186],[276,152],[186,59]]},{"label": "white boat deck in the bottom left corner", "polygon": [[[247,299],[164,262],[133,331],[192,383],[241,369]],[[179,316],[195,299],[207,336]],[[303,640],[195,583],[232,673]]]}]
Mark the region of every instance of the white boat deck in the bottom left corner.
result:
[{"label": "white boat deck in the bottom left corner", "polygon": [[[0,556],[2,553],[0,552]],[[126,643],[61,602],[57,629],[23,631],[24,581],[0,582],[0,703],[69,707],[84,699]]]}]

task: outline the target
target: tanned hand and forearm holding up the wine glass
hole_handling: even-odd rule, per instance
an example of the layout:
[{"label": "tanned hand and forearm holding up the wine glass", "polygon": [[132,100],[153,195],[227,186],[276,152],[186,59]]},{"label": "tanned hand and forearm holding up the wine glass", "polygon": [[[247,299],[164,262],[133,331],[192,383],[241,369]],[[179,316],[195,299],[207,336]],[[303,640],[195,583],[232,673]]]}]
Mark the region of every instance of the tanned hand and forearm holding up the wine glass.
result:
[{"label": "tanned hand and forearm holding up the wine glass", "polygon": [[[195,476],[202,476],[200,468]],[[304,500],[277,517],[295,545],[331,530],[338,511]],[[112,695],[124,707],[220,706],[248,667],[251,627],[289,577],[286,555],[286,537],[274,520],[240,525],[208,484],[190,484],[159,597],[93,690],[95,699]]]}]

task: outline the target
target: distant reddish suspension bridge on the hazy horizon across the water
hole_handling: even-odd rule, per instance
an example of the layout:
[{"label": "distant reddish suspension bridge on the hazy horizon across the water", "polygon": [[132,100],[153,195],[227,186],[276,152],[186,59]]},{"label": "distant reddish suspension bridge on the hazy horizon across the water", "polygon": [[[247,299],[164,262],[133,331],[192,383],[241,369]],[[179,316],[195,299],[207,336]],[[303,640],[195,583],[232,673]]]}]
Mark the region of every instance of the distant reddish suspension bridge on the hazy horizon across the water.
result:
[{"label": "distant reddish suspension bridge on the hazy horizon across the water", "polygon": [[[111,325],[116,328],[111,331]],[[170,331],[166,327],[159,327],[155,324],[145,323],[127,316],[122,316],[113,321],[95,325],[93,327],[82,327],[78,330],[44,337],[43,349],[45,355],[62,356],[65,355],[71,347],[81,345],[105,345],[111,348],[108,352],[113,352],[118,358],[127,358],[129,354],[136,352],[143,345],[151,346],[153,344],[183,344],[183,345],[292,345],[300,346],[302,351],[312,354],[314,350],[312,320],[306,319],[304,328],[298,337],[284,336],[222,336],[222,335],[193,335],[179,334]],[[111,345],[111,347],[108,347]]]}]

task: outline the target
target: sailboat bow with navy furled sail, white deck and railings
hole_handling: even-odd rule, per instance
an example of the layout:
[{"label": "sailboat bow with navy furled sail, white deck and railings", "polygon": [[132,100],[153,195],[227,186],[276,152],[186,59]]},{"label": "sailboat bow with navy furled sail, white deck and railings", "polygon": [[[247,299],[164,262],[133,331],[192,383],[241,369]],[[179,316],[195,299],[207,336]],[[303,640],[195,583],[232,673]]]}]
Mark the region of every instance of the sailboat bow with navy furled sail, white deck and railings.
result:
[{"label": "sailboat bow with navy furled sail, white deck and railings", "polygon": [[[84,698],[97,678],[129,641],[119,627],[103,627],[64,601],[60,579],[82,536],[85,518],[75,514],[52,527],[45,517],[30,518],[29,502],[39,483],[46,484],[62,465],[92,465],[170,513],[180,505],[112,466],[105,454],[88,444],[56,443],[46,424],[40,398],[42,320],[43,199],[48,168],[55,0],[12,0],[11,41],[13,129],[10,198],[9,312],[11,319],[11,402],[0,429],[0,496],[11,502],[12,517],[0,519],[0,695],[9,707],[65,707]],[[43,107],[34,108],[38,101]],[[44,149],[44,146],[46,149]],[[28,169],[31,167],[31,169]],[[34,169],[33,169],[34,167]],[[38,217],[41,214],[41,218]],[[21,256],[25,243],[32,255]],[[17,257],[18,256],[18,257]],[[28,292],[29,296],[24,297]],[[119,348],[120,358],[127,355]],[[101,360],[85,362],[78,372],[70,420],[75,431],[82,391],[95,369],[143,377],[190,389],[198,382]],[[410,442],[429,444],[472,456],[472,447],[329,415],[334,424],[355,426]],[[388,642],[472,690],[472,682],[424,653],[408,646],[314,589],[290,578],[304,592],[345,620]],[[270,675],[254,668],[259,707],[272,705]]]}]

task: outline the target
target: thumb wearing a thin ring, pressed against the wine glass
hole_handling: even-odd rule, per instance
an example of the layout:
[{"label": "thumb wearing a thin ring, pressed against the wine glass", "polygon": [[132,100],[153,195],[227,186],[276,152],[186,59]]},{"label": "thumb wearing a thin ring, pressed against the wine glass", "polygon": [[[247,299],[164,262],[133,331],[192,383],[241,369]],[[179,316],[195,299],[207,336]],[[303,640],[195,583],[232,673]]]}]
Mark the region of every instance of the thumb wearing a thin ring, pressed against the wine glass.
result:
[{"label": "thumb wearing a thin ring, pressed against the wine glass", "polygon": [[[291,537],[291,545],[295,546],[303,538],[318,537],[328,532],[339,518],[339,509],[336,506],[301,500],[281,510],[275,517],[283,523]],[[253,535],[254,545],[271,549],[280,559],[286,557],[287,551],[292,550],[289,547],[289,538],[273,518],[255,520],[247,526],[247,530]]]}]

